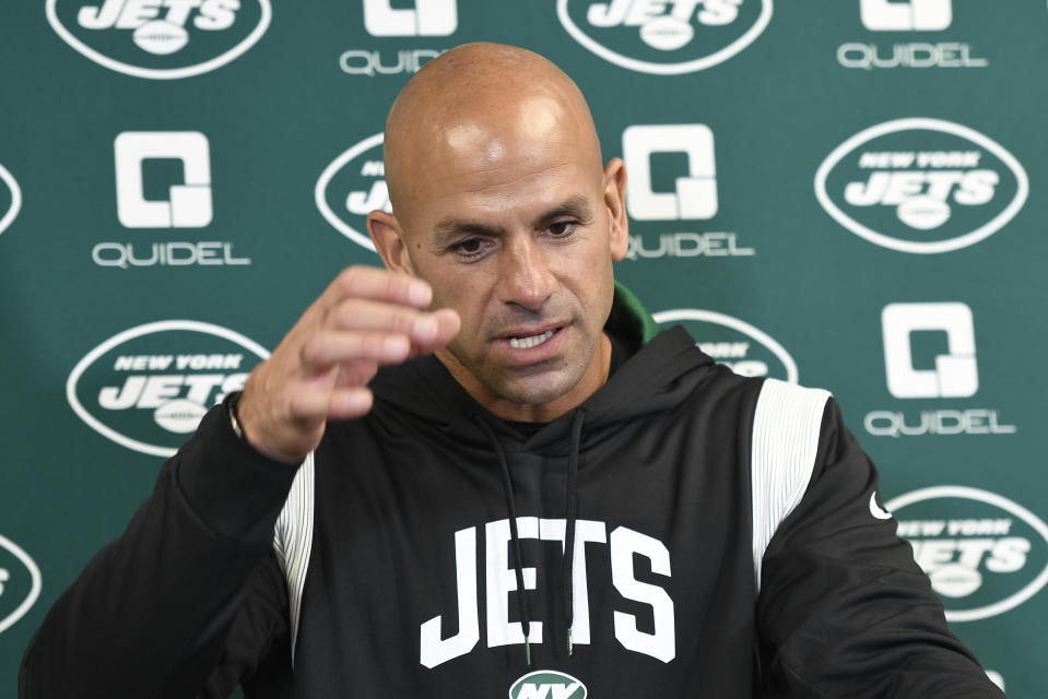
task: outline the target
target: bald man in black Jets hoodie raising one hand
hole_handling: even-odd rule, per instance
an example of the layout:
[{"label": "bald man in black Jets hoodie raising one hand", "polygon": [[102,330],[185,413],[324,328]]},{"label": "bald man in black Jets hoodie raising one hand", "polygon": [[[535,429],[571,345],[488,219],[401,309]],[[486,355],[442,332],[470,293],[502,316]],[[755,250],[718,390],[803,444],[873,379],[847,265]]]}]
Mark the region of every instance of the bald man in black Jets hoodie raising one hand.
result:
[{"label": "bald man in black Jets hoodie raising one hand", "polygon": [[1001,696],[828,394],[615,287],[626,175],[566,75],[449,51],[385,158],[387,271],[204,417],[23,697]]}]

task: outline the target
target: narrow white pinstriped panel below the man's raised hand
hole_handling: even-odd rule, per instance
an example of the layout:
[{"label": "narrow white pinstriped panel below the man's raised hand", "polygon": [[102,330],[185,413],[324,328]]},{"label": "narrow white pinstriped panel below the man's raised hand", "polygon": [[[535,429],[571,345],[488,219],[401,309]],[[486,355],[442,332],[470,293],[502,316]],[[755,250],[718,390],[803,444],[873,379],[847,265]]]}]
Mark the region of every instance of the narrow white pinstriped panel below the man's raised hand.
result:
[{"label": "narrow white pinstriped panel below the man's raised hand", "polygon": [[292,483],[284,509],[273,531],[273,549],[287,581],[291,614],[291,659],[295,661],[295,641],[298,639],[298,616],[302,612],[302,591],[306,585],[309,552],[313,549],[313,452],[306,457]]}]

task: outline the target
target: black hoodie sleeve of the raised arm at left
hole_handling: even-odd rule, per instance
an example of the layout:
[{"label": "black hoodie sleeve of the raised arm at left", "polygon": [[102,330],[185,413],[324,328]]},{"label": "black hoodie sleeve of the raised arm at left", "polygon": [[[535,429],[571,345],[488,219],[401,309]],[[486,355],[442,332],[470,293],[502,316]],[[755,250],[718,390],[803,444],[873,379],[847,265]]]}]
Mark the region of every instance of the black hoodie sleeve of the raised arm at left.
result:
[{"label": "black hoodie sleeve of the raised arm at left", "polygon": [[216,668],[234,619],[234,654],[281,631],[271,550],[295,472],[239,440],[226,404],[209,411],[123,535],[51,607],[19,697],[195,697],[227,684]]}]

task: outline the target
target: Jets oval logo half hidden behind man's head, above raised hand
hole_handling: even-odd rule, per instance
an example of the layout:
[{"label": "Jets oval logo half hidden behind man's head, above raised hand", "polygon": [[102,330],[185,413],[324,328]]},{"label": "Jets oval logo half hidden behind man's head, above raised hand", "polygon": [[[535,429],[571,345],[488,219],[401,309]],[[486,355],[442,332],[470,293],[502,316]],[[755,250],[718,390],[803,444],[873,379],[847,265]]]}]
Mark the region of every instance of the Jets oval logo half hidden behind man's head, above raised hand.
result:
[{"label": "Jets oval logo half hidden behind man's head, above raised hand", "polygon": [[320,174],[314,196],[317,209],[335,230],[374,251],[367,235],[367,214],[376,209],[392,211],[382,163],[382,134],[368,137],[334,158]]}]

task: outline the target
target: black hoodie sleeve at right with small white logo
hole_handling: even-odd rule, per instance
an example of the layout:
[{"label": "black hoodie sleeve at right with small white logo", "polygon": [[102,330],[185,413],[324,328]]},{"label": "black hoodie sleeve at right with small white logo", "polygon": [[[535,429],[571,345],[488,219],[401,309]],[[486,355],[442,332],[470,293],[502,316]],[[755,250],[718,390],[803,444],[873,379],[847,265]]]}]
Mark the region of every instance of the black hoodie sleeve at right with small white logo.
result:
[{"label": "black hoodie sleeve at right with small white logo", "polygon": [[[871,512],[876,470],[833,400],[808,490],[763,559],[758,655],[769,698],[1000,699],[896,521]],[[880,502],[880,501],[878,501]]]}]

